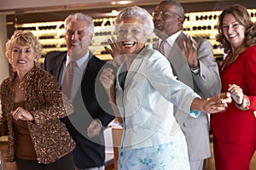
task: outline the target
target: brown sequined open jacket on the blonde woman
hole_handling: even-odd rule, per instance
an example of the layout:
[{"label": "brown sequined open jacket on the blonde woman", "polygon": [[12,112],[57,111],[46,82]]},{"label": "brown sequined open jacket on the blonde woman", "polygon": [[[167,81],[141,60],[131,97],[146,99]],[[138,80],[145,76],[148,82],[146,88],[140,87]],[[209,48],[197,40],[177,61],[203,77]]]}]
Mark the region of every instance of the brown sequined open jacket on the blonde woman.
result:
[{"label": "brown sequined open jacket on the blonde woman", "polygon": [[[14,80],[17,74],[5,79],[0,88],[3,117],[0,120],[0,135],[9,136],[6,161],[15,161],[15,136],[10,111],[14,108]],[[55,78],[40,68],[26,73],[26,110],[35,120],[27,122],[38,161],[48,164],[57,161],[75,148],[61,117],[73,112],[73,105],[61,94]]]}]

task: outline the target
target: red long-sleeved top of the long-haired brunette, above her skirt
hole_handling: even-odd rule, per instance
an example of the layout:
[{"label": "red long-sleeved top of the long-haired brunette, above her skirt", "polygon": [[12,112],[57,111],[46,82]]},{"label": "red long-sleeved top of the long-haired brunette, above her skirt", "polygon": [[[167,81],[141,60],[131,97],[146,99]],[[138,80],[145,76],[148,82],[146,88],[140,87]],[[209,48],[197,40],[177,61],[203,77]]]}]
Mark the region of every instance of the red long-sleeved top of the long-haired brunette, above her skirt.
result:
[{"label": "red long-sleeved top of the long-haired brunette, above her skirt", "polygon": [[256,112],[256,46],[239,54],[220,72],[220,77],[222,92],[227,92],[230,84],[236,84],[248,96],[251,105],[249,110],[241,111],[233,100],[226,111],[212,115],[212,133],[218,139],[256,142],[256,117],[253,114],[253,111]]}]

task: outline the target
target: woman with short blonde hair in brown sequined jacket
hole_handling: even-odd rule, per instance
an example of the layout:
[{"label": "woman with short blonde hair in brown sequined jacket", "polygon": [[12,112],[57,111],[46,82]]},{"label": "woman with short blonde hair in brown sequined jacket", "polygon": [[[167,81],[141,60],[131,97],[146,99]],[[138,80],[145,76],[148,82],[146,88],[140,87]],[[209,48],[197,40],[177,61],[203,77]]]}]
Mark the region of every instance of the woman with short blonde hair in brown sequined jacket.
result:
[{"label": "woman with short blonde hair in brown sequined jacket", "polygon": [[6,160],[16,161],[18,170],[73,170],[75,143],[60,121],[73,105],[63,103],[55,78],[37,66],[37,37],[31,31],[15,31],[6,43],[6,56],[14,70],[0,90],[0,134],[9,137]]}]

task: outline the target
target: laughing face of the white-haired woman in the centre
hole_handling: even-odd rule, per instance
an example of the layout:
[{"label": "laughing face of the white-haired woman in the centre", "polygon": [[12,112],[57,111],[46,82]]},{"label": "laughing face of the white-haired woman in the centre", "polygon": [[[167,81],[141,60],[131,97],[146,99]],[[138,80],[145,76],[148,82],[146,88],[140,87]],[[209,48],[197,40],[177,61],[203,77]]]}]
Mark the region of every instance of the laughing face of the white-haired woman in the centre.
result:
[{"label": "laughing face of the white-haired woman in the centre", "polygon": [[117,26],[117,41],[123,54],[138,54],[144,47],[147,37],[143,20],[130,17]]}]

